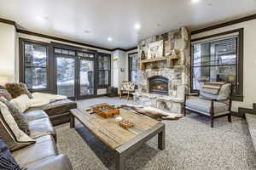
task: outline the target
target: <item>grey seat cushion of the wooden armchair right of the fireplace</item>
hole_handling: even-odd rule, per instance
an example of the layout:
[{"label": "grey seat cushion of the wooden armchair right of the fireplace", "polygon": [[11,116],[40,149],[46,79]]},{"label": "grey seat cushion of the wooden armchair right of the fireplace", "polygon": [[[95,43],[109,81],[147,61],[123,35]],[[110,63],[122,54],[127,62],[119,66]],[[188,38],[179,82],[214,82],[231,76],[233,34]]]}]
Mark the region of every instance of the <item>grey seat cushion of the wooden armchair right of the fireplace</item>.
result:
[{"label": "grey seat cushion of the wooden armchair right of the fireplace", "polygon": [[[207,99],[192,98],[186,100],[186,107],[193,111],[200,111],[210,115],[212,101]],[[218,116],[218,113],[224,113],[229,111],[229,105],[221,102],[214,102],[214,114]]]}]

